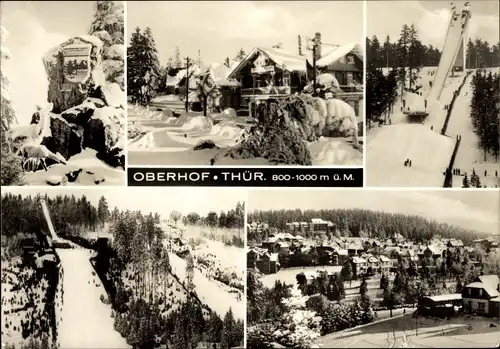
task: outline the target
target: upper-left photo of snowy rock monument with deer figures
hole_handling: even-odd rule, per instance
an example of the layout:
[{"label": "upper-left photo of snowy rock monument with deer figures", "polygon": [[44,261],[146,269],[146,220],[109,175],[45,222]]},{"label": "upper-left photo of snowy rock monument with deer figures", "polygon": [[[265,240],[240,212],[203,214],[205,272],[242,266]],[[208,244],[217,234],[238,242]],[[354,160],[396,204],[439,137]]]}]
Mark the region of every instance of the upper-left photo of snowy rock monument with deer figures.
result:
[{"label": "upper-left photo of snowy rock monument with deer figures", "polygon": [[1,6],[2,186],[125,185],[124,2]]}]

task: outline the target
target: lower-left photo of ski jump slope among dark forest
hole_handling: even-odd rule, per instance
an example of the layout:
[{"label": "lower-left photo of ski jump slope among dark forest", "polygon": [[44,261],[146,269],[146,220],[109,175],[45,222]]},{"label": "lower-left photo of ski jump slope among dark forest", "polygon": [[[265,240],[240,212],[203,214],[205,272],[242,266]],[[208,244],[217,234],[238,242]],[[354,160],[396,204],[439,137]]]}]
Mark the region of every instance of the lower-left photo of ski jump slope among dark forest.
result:
[{"label": "lower-left photo of ski jump slope among dark forest", "polygon": [[5,348],[243,347],[240,189],[2,188]]}]

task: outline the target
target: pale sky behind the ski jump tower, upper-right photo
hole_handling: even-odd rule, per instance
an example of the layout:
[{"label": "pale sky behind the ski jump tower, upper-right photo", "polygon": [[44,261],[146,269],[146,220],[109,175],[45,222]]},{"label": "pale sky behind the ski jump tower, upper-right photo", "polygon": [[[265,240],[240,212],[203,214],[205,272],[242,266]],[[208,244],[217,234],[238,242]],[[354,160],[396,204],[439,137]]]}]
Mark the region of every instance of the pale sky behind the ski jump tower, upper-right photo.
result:
[{"label": "pale sky behind the ski jump tower, upper-right photo", "polygon": [[[367,1],[367,36],[377,35],[384,41],[390,35],[391,41],[399,38],[403,24],[415,24],[420,39],[426,45],[442,49],[447,26],[451,16],[451,1]],[[464,1],[455,1],[457,9]],[[499,1],[470,1],[472,17],[469,36],[481,38],[490,44],[499,41]]]}]

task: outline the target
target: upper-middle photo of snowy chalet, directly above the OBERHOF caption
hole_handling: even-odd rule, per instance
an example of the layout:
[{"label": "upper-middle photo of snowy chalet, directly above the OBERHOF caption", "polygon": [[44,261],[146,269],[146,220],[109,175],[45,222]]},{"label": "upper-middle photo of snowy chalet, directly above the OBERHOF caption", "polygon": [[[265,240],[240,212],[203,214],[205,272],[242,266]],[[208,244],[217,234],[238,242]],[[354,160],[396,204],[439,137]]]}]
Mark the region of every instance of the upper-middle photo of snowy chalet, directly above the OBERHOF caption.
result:
[{"label": "upper-middle photo of snowy chalet, directly above the OBERHOF caption", "polygon": [[362,1],[127,6],[129,165],[363,166]]}]

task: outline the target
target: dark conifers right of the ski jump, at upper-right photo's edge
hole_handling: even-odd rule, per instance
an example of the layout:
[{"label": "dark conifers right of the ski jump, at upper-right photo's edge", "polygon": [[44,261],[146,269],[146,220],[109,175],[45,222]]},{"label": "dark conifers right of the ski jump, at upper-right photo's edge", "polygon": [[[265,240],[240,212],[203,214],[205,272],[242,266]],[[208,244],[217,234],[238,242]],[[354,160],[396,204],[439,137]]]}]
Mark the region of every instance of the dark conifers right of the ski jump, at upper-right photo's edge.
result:
[{"label": "dark conifers right of the ski jump, at upper-right photo's edge", "polygon": [[484,151],[484,161],[487,154],[498,160],[500,149],[500,80],[498,74],[486,71],[476,71],[472,78],[472,98],[470,102],[470,118],[474,133],[479,139],[479,145]]}]

